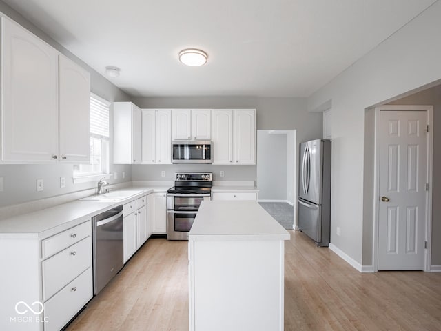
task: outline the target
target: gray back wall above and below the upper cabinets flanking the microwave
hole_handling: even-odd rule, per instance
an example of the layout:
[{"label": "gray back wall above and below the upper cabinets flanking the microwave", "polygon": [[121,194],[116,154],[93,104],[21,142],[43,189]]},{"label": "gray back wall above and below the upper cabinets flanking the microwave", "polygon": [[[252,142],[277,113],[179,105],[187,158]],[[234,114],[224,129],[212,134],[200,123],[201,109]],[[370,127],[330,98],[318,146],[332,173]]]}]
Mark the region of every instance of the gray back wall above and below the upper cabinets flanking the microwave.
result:
[{"label": "gray back wall above and below the upper cabinets flanking the microwave", "polygon": [[[322,137],[322,113],[307,112],[305,98],[256,98],[256,97],[149,97],[133,98],[141,108],[256,108],[256,128],[258,130],[296,130],[297,139],[307,141]],[[166,177],[161,176],[162,166],[136,165],[132,179],[163,180],[172,179],[172,173],[180,171],[178,165],[165,165]],[[191,165],[187,167],[194,170]],[[209,165],[217,180],[254,180],[257,178],[256,165]],[[220,178],[220,170],[225,177]],[[170,174],[170,175],[169,175]],[[296,174],[297,176],[297,174]]]}]

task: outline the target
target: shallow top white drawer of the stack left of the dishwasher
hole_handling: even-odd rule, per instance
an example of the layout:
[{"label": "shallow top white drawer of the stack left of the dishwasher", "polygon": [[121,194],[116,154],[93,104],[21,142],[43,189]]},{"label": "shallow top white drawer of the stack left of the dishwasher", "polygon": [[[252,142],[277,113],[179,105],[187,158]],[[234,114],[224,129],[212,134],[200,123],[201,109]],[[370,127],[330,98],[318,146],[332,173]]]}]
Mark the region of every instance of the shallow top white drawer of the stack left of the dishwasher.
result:
[{"label": "shallow top white drawer of the stack left of the dishwasher", "polygon": [[59,234],[45,239],[41,243],[41,250],[43,254],[43,259],[52,256],[64,250],[74,243],[78,243],[81,239],[88,237],[92,234],[92,223],[87,221],[79,225],[74,226],[65,230]]}]

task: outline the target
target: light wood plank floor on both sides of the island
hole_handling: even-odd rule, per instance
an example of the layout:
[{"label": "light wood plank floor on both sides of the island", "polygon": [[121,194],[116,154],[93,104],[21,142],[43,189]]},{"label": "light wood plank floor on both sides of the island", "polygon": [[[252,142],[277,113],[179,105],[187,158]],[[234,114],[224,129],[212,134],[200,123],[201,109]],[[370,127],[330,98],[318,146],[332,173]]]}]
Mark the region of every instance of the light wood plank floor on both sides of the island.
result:
[{"label": "light wood plank floor on both sides of the island", "polygon": [[[441,273],[361,274],[289,232],[285,331],[441,330]],[[149,239],[67,330],[187,331],[187,298],[187,242]]]}]

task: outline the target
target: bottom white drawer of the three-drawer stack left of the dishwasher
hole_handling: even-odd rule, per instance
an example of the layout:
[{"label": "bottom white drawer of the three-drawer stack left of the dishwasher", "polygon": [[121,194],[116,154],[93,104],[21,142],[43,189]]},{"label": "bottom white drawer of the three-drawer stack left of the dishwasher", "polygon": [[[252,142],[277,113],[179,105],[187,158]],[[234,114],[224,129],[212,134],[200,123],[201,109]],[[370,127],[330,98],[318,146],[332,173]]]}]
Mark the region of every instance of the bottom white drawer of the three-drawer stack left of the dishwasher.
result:
[{"label": "bottom white drawer of the three-drawer stack left of the dishwasher", "polygon": [[92,268],[66,285],[44,304],[45,331],[59,331],[92,299]]}]

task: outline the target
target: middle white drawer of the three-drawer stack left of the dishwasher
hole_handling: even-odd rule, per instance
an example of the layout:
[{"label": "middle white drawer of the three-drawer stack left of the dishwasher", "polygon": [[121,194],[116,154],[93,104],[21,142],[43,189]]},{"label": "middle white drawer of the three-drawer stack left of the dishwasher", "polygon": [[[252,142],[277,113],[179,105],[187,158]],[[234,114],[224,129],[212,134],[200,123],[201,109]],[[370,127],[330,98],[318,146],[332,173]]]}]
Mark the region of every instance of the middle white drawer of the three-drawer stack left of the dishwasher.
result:
[{"label": "middle white drawer of the three-drawer stack left of the dishwasher", "polygon": [[92,265],[92,237],[86,237],[41,263],[47,300]]}]

